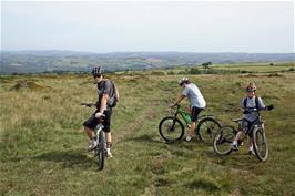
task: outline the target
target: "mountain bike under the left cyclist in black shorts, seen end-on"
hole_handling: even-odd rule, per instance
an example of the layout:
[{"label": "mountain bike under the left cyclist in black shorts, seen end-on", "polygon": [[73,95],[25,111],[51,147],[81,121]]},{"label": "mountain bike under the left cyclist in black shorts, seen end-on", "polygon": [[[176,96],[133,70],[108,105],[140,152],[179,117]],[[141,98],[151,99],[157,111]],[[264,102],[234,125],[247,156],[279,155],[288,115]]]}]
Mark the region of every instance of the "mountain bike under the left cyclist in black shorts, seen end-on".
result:
[{"label": "mountain bike under the left cyclist in black shorts, seen end-on", "polygon": [[[94,103],[81,103],[81,105],[85,105],[88,107],[95,106]],[[104,115],[102,115],[104,117]],[[103,169],[104,167],[104,159],[106,157],[106,138],[105,133],[103,131],[103,120],[100,117],[98,118],[99,124],[94,128],[94,138],[98,145],[92,149],[94,151],[94,158],[96,161],[99,169]]]}]

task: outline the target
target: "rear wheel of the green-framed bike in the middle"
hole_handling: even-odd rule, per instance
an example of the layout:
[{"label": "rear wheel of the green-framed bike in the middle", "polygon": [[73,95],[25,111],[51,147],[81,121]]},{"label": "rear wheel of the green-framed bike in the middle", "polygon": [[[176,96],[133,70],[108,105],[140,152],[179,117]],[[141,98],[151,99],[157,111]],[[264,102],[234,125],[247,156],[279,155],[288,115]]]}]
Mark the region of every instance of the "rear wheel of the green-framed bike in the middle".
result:
[{"label": "rear wheel of the green-framed bike in the middle", "polygon": [[197,124],[196,134],[199,134],[201,141],[211,144],[214,135],[220,128],[221,125],[216,120],[212,117],[205,117]]}]

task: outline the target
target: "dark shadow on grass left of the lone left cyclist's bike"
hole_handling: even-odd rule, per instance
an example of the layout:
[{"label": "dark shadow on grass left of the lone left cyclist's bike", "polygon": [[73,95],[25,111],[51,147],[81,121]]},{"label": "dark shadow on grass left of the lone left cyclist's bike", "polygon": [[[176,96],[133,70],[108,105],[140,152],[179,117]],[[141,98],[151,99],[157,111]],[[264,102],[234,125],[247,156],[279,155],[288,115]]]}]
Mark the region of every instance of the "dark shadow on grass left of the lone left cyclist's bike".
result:
[{"label": "dark shadow on grass left of the lone left cyclist's bike", "polygon": [[53,151],[33,157],[34,159],[60,163],[64,168],[89,168],[92,159],[83,151]]}]

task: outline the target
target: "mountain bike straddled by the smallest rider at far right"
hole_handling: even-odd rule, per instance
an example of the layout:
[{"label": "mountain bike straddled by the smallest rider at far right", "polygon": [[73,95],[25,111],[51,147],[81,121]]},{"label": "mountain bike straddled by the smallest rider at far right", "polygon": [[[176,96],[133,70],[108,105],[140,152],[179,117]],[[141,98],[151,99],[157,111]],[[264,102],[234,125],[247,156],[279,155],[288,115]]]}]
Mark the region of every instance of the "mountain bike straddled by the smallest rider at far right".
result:
[{"label": "mountain bike straddled by the smallest rider at far right", "polygon": [[[266,106],[266,110],[272,110],[273,106]],[[255,109],[253,109],[255,110]],[[260,113],[258,113],[260,114]],[[243,118],[232,120],[234,123],[242,123]],[[213,149],[214,153],[221,156],[230,155],[234,149],[231,144],[233,143],[235,135],[238,132],[238,125],[235,128],[231,125],[222,126],[218,132],[215,134],[213,140]],[[245,140],[251,137],[253,141],[253,149],[256,157],[264,162],[268,158],[268,144],[266,141],[264,122],[262,116],[258,115],[257,123],[254,123],[252,127],[250,127],[248,132],[244,135],[242,140],[237,141],[237,146],[241,146]]]}]

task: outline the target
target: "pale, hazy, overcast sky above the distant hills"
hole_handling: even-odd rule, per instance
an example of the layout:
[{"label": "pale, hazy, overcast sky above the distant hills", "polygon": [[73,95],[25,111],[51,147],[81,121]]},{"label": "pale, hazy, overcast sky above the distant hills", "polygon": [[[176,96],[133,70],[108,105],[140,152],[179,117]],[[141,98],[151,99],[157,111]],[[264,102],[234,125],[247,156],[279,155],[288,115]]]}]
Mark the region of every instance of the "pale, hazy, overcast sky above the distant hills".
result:
[{"label": "pale, hazy, overcast sky above the distant hills", "polygon": [[1,50],[292,53],[293,1],[1,1]]}]

